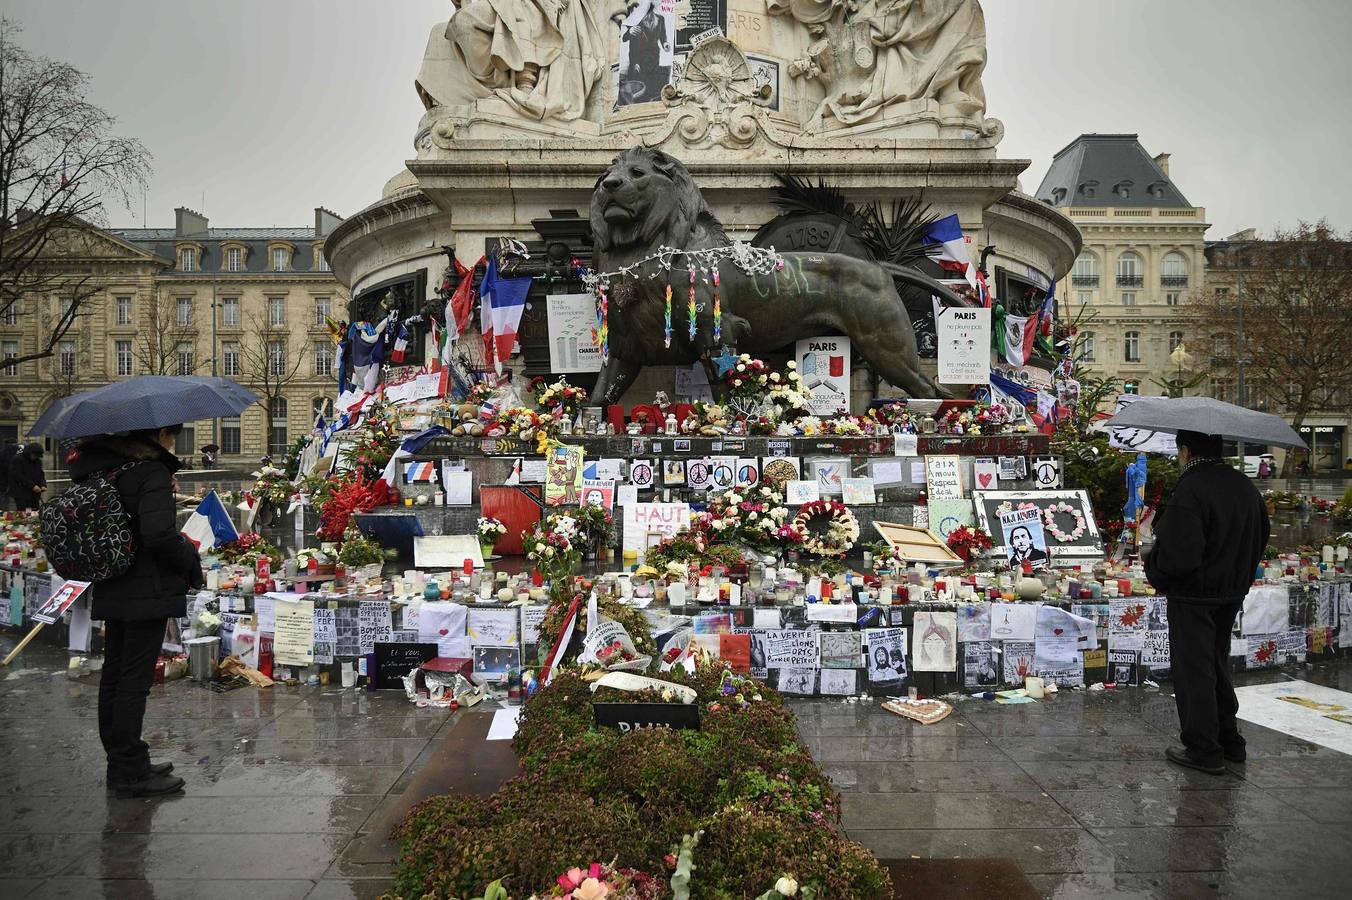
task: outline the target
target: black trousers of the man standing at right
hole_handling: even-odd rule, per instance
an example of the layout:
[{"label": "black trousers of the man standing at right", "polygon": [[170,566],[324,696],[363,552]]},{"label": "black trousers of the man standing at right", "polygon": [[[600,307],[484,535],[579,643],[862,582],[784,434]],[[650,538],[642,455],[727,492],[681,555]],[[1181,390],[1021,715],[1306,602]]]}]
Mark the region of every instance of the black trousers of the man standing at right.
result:
[{"label": "black trousers of the man standing at right", "polygon": [[1242,604],[1210,607],[1169,600],[1169,673],[1179,708],[1183,749],[1205,765],[1221,765],[1224,750],[1242,750],[1230,681],[1230,628]]}]

